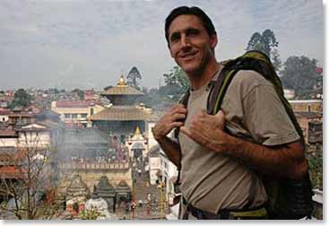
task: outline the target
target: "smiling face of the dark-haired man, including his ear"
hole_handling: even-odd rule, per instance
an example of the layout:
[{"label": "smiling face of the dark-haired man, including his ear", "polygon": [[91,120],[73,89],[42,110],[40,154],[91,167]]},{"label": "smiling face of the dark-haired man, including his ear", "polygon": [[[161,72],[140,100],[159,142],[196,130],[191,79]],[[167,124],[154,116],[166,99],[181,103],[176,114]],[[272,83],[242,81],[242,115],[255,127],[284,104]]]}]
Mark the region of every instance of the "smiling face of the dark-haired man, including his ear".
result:
[{"label": "smiling face of the dark-haired man, including his ear", "polygon": [[169,49],[186,74],[200,74],[213,56],[217,36],[209,37],[195,15],[180,15],[169,26]]}]

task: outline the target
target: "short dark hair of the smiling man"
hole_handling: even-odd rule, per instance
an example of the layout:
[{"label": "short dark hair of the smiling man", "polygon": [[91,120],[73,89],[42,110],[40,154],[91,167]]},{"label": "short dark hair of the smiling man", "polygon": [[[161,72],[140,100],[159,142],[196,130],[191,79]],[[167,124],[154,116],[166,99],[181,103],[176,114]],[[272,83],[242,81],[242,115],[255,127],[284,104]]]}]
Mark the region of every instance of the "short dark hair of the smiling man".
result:
[{"label": "short dark hair of the smiling man", "polygon": [[203,26],[205,30],[207,30],[209,36],[216,33],[215,27],[212,24],[212,20],[209,18],[209,16],[206,13],[203,12],[202,9],[196,6],[191,6],[191,7],[179,6],[173,9],[169,13],[168,17],[166,18],[165,32],[166,32],[166,39],[168,43],[169,43],[169,26],[171,22],[173,22],[175,18],[180,15],[195,15],[201,20],[201,22],[203,22]]}]

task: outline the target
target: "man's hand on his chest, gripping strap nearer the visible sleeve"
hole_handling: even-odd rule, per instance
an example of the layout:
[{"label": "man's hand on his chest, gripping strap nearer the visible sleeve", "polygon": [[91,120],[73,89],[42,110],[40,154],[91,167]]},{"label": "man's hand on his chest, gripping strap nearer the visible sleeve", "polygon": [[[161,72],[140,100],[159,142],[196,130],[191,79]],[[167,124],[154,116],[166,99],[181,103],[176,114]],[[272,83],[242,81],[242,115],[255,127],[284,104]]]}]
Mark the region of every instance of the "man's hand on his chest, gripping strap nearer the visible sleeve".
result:
[{"label": "man's hand on his chest, gripping strap nearer the visible sleeve", "polygon": [[[219,111],[216,115],[208,115],[205,110],[196,113],[189,126],[180,127],[180,132],[189,136],[196,143],[221,152],[228,142],[229,135],[224,132],[225,114]],[[220,148],[220,149],[219,149]]]}]

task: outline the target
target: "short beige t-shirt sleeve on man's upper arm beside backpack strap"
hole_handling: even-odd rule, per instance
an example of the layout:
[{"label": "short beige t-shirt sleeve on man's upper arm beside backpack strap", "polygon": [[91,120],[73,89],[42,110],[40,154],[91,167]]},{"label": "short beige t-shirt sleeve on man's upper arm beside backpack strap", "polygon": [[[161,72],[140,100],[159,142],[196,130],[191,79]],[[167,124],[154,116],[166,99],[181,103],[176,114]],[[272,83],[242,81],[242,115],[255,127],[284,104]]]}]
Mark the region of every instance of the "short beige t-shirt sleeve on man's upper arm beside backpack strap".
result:
[{"label": "short beige t-shirt sleeve on man's upper arm beside backpack strap", "polygon": [[299,140],[272,83],[256,85],[243,98],[243,106],[244,124],[258,143],[273,146]]}]

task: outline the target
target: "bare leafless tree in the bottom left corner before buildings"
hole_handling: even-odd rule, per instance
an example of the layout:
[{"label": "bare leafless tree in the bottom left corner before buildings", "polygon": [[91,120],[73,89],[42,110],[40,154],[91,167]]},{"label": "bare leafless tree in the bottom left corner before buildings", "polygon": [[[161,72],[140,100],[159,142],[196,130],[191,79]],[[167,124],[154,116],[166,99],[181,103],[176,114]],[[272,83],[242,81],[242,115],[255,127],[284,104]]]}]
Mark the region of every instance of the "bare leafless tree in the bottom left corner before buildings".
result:
[{"label": "bare leafless tree in the bottom left corner before buildings", "polygon": [[58,213],[58,206],[48,196],[56,183],[53,150],[40,135],[31,134],[22,132],[15,152],[2,152],[1,167],[11,174],[0,175],[0,192],[6,197],[0,210],[13,213],[19,220],[51,219]]}]

